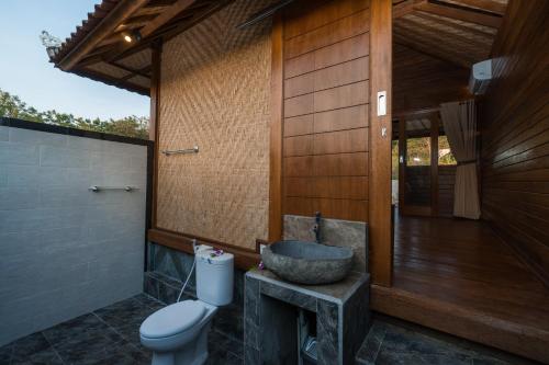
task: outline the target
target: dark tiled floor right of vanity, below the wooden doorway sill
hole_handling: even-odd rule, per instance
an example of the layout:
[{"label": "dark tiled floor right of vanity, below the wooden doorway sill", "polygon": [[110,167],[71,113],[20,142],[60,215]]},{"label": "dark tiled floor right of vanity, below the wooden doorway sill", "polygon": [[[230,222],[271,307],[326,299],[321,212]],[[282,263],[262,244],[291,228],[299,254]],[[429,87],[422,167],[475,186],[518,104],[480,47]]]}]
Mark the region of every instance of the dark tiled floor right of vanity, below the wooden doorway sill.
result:
[{"label": "dark tiled floor right of vanity, below the wooden doorway sill", "polygon": [[377,316],[357,365],[529,365],[531,362],[437,331]]}]

